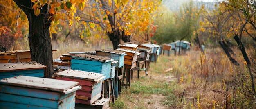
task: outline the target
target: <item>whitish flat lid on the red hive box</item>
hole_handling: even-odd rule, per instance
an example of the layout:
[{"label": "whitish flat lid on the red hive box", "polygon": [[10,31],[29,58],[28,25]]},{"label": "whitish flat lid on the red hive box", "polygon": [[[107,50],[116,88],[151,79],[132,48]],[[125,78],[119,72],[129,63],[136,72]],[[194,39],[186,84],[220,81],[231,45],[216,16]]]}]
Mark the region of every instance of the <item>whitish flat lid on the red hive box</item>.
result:
[{"label": "whitish flat lid on the red hive box", "polygon": [[62,72],[58,72],[53,74],[54,76],[61,76],[61,77],[67,77],[67,78],[76,78],[76,79],[83,79],[83,80],[89,80],[89,81],[95,81],[99,82],[105,76],[104,74],[99,74],[99,73],[94,73],[94,72],[87,72],[87,71],[80,71],[80,70],[73,70],[73,69],[68,69],[64,70]]}]

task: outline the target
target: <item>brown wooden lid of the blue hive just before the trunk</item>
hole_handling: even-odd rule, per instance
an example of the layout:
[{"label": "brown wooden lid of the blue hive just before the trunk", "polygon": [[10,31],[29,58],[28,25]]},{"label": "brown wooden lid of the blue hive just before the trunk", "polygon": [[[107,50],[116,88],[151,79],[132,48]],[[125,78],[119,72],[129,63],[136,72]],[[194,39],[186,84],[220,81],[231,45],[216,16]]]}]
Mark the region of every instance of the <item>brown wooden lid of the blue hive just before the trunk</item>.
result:
[{"label": "brown wooden lid of the blue hive just before the trunk", "polygon": [[45,69],[46,66],[40,63],[0,63],[0,72],[11,72],[17,70]]}]

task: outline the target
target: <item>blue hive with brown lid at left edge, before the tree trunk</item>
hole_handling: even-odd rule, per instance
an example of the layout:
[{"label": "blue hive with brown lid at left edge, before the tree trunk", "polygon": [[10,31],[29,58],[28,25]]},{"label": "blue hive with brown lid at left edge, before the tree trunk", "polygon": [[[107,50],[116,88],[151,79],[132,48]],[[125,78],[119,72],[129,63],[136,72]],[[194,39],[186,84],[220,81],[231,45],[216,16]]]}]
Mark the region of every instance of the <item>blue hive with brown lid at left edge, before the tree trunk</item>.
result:
[{"label": "blue hive with brown lid at left edge, before the tree trunk", "polygon": [[46,67],[35,61],[22,63],[0,63],[0,79],[13,76],[44,77]]}]

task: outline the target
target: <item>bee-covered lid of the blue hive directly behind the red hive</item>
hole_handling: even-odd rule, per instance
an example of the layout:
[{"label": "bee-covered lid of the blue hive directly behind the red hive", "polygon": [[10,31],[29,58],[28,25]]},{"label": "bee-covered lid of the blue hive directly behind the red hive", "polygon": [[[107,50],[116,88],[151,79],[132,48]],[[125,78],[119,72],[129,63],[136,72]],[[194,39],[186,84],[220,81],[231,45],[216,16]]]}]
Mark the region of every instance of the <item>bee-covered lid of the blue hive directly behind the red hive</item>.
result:
[{"label": "bee-covered lid of the blue hive directly behind the red hive", "polygon": [[100,61],[100,62],[105,62],[105,63],[114,61],[114,59],[111,59],[109,57],[90,55],[90,54],[76,54],[71,57],[76,58],[76,59],[83,59],[83,60],[89,60],[89,61]]}]

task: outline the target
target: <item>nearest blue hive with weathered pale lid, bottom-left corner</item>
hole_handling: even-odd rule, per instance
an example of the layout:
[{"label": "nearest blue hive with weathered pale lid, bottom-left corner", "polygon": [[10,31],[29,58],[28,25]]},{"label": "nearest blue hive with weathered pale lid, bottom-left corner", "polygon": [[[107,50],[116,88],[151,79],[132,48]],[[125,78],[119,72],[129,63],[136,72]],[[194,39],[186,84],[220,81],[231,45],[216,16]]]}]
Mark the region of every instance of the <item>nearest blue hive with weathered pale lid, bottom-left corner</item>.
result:
[{"label": "nearest blue hive with weathered pale lid, bottom-left corner", "polygon": [[74,109],[78,82],[32,76],[0,80],[0,109]]}]

